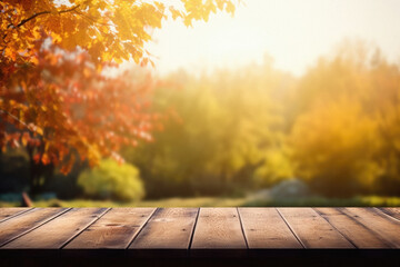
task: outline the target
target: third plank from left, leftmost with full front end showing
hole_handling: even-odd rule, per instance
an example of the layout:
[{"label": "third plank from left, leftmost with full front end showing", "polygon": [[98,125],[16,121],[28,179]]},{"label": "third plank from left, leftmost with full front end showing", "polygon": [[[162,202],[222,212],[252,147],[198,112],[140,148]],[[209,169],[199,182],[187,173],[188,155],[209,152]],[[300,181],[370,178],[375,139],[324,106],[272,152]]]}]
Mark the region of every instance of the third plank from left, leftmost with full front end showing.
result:
[{"label": "third plank from left, leftmost with full front end showing", "polygon": [[2,248],[59,249],[101,217],[106,208],[73,208],[41,227],[19,237]]}]

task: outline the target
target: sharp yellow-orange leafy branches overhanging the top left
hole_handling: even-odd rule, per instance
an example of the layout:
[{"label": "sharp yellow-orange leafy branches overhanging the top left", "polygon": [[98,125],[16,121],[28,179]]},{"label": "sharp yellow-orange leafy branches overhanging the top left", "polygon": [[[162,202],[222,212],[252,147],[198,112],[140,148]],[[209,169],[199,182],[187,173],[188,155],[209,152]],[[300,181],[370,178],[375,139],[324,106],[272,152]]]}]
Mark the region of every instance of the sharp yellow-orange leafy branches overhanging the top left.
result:
[{"label": "sharp yellow-orange leafy branches overhanging the top left", "polygon": [[163,19],[181,18],[191,26],[217,10],[234,12],[229,0],[181,0],[180,6],[136,0],[6,0],[0,3],[0,50],[6,58],[34,63],[34,42],[43,30],[62,49],[73,51],[79,46],[87,50],[94,62],[133,58],[146,63],[150,53],[144,43]]}]

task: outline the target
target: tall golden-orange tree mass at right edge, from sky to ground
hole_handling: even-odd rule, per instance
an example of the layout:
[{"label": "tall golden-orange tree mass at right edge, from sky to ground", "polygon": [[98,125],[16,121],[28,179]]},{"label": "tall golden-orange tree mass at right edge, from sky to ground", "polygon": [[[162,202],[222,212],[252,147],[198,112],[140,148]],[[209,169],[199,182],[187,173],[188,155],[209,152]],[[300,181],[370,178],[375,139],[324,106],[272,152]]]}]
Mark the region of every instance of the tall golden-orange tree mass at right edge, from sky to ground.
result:
[{"label": "tall golden-orange tree mass at right edge, from sky to ground", "polygon": [[399,70],[378,48],[344,42],[301,78],[290,145],[316,191],[399,194]]}]

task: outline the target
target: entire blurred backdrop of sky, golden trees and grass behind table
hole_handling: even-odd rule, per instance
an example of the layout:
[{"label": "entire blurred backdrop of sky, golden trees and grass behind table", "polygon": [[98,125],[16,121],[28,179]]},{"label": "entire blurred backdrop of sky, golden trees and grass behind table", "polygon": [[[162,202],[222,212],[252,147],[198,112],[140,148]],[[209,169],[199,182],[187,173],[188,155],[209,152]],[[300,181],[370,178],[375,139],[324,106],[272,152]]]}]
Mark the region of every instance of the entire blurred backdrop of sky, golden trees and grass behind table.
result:
[{"label": "entire blurred backdrop of sky, golden trees and grass behind table", "polygon": [[[399,206],[399,1],[248,0],[236,14],[166,21],[107,75],[162,79],[168,115],[124,162],[43,167],[36,206]],[[77,155],[79,159],[79,155]],[[0,206],[29,191],[24,148],[0,154]]]}]

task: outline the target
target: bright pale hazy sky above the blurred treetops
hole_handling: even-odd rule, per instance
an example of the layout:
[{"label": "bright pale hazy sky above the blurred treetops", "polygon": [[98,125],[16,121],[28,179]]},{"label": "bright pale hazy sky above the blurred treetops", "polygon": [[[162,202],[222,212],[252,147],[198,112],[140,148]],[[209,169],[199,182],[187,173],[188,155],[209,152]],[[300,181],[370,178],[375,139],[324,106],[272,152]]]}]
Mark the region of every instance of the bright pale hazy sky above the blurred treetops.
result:
[{"label": "bright pale hazy sky above the blurred treetops", "polygon": [[260,62],[301,75],[344,38],[378,44],[391,60],[400,59],[400,0],[243,0],[232,18],[213,14],[187,28],[164,21],[150,51],[161,73]]}]

